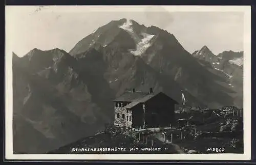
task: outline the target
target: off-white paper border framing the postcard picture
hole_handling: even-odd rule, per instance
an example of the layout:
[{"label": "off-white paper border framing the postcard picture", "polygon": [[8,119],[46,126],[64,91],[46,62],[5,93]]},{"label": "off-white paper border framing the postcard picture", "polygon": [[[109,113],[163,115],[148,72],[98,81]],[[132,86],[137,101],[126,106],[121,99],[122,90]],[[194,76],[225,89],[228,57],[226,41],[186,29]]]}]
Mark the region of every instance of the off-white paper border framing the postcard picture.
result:
[{"label": "off-white paper border framing the postcard picture", "polygon": [[[250,160],[251,159],[251,7],[250,6],[160,6],[169,12],[244,12],[244,153],[243,154],[13,154],[12,152],[12,34],[9,22],[12,11],[28,6],[6,6],[5,50],[5,151],[6,159],[78,159],[78,160]],[[141,11],[141,6],[49,6],[66,8],[65,12]],[[148,7],[148,6],[143,6]],[[153,7],[153,6],[152,6]],[[86,8],[86,10],[84,10]],[[159,8],[159,6],[158,6]]]}]

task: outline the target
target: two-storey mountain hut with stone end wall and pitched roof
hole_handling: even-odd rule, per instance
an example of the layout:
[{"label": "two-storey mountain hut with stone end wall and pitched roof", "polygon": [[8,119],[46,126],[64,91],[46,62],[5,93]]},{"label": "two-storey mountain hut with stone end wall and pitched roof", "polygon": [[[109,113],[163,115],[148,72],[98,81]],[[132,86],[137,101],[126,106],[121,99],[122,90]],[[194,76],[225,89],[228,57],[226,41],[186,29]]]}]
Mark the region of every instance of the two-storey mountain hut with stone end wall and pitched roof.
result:
[{"label": "two-storey mountain hut with stone end wall and pitched roof", "polygon": [[115,103],[115,126],[126,128],[168,127],[175,123],[177,101],[163,92],[126,92],[113,100]]}]

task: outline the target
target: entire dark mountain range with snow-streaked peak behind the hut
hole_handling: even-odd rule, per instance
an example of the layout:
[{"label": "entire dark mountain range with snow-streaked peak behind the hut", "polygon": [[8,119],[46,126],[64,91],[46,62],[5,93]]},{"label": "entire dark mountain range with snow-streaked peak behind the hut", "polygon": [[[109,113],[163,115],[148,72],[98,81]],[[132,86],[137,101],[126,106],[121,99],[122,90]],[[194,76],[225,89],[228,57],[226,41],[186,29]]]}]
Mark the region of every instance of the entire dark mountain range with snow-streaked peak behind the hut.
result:
[{"label": "entire dark mountain range with snow-streaked peak behind the hut", "polygon": [[[203,55],[202,55],[203,54]],[[114,20],[70,52],[13,53],[13,151],[46,153],[114,120],[113,99],[135,88],[162,91],[188,106],[243,106],[243,52],[190,54],[173,34]]]}]

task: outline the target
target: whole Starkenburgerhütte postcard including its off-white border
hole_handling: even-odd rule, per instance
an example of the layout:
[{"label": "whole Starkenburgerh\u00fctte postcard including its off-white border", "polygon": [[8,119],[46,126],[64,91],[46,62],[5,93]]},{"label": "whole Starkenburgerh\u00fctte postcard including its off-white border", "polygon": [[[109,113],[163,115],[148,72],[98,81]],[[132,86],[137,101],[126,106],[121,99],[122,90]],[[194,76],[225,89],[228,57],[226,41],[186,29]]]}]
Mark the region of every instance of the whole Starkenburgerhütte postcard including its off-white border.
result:
[{"label": "whole Starkenburgerh\u00fctte postcard including its off-white border", "polygon": [[250,21],[250,6],[6,6],[6,158],[250,159]]}]

